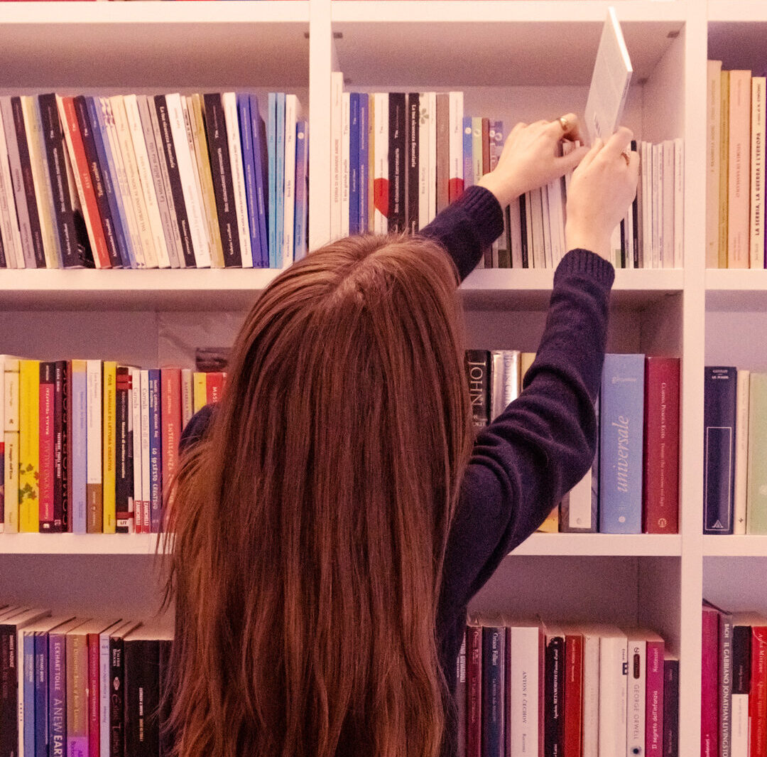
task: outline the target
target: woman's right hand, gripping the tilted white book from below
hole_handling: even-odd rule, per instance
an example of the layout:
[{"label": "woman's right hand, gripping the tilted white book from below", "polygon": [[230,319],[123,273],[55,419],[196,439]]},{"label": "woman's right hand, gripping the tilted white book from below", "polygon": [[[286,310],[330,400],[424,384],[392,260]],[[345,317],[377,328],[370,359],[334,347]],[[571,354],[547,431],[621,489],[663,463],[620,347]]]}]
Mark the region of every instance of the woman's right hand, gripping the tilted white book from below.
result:
[{"label": "woman's right hand, gripping the tilted white book from below", "polygon": [[630,150],[633,138],[621,127],[606,143],[597,140],[574,170],[565,224],[568,250],[582,248],[610,259],[613,230],[637,193],[639,156]]}]

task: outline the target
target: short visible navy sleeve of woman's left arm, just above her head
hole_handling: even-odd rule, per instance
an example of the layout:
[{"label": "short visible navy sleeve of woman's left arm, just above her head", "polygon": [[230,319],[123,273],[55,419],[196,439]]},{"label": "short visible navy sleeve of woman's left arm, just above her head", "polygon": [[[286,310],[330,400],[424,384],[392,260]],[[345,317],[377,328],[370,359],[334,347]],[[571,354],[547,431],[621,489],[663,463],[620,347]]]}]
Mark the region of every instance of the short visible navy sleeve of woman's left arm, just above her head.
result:
[{"label": "short visible navy sleeve of woman's left arm, just above her head", "polygon": [[482,250],[503,233],[501,205],[485,187],[469,187],[419,233],[447,250],[463,281],[479,263]]}]

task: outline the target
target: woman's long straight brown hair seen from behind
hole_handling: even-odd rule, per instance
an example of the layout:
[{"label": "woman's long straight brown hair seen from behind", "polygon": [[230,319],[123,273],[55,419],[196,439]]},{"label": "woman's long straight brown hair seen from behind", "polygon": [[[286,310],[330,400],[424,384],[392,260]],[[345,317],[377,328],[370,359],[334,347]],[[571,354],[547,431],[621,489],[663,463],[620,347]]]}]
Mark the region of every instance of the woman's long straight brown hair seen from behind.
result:
[{"label": "woman's long straight brown hair seen from behind", "polygon": [[435,625],[471,448],[456,271],[358,236],[258,297],[173,489],[179,757],[434,757]]}]

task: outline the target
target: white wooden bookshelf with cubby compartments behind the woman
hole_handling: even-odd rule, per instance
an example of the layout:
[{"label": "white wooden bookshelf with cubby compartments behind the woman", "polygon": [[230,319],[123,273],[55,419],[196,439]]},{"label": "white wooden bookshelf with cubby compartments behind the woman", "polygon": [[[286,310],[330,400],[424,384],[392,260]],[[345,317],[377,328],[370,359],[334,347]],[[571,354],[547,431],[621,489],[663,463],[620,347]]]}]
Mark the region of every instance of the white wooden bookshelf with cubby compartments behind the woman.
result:
[{"label": "white wooden bookshelf with cubby compartments behind the woman", "polygon": [[[763,65],[763,0],[616,0],[635,66],[624,121],[686,144],[685,263],[617,272],[608,349],[683,359],[680,534],[535,534],[472,603],[561,620],[643,623],[681,659],[680,755],[700,752],[700,602],[767,610],[762,537],[703,537],[703,366],[767,369],[767,272],[706,271],[706,58]],[[582,112],[603,0],[242,0],[8,3],[0,94],[295,91],[311,114],[310,243],[330,232],[330,80],[347,89],[461,89],[466,113]],[[0,352],[135,364],[229,343],[263,270],[2,271]],[[534,350],[550,271],[466,280],[470,346]],[[229,341],[227,341],[229,340]],[[750,363],[750,365],[749,365]],[[156,537],[0,535],[0,594],[54,609],[152,613]]]}]

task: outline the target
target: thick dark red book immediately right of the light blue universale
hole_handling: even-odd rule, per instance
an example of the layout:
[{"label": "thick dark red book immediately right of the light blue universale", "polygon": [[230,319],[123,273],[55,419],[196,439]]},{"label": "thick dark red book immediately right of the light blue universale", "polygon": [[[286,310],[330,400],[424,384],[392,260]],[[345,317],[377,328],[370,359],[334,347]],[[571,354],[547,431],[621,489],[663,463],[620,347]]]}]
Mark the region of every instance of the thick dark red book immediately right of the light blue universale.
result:
[{"label": "thick dark red book immediately right of the light blue universale", "polygon": [[644,371],[645,534],[679,533],[678,358],[648,357]]}]

